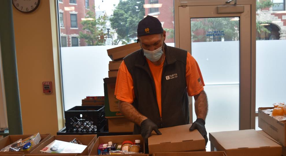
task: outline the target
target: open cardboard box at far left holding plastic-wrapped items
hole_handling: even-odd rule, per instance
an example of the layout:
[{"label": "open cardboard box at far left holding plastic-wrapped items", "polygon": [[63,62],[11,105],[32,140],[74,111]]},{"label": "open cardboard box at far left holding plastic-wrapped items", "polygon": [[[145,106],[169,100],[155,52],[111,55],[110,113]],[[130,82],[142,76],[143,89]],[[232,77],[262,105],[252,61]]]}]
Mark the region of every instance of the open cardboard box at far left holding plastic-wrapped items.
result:
[{"label": "open cardboard box at far left holding plastic-wrapped items", "polygon": [[[34,135],[34,134],[32,134]],[[5,138],[0,140],[0,150],[10,144],[13,144],[14,142],[16,142],[19,139],[26,139],[29,138],[32,135],[8,135]],[[40,144],[42,144],[43,142],[47,141],[49,138],[51,138],[51,134],[40,134],[41,136],[41,140],[38,144],[36,144],[35,146],[32,147],[32,149],[30,151],[19,151],[20,153],[31,153],[31,151],[33,151],[34,149],[36,149]],[[1,152],[0,152],[1,153]],[[2,152],[3,153],[3,152]],[[14,152],[14,153],[18,153],[18,152]]]}]

